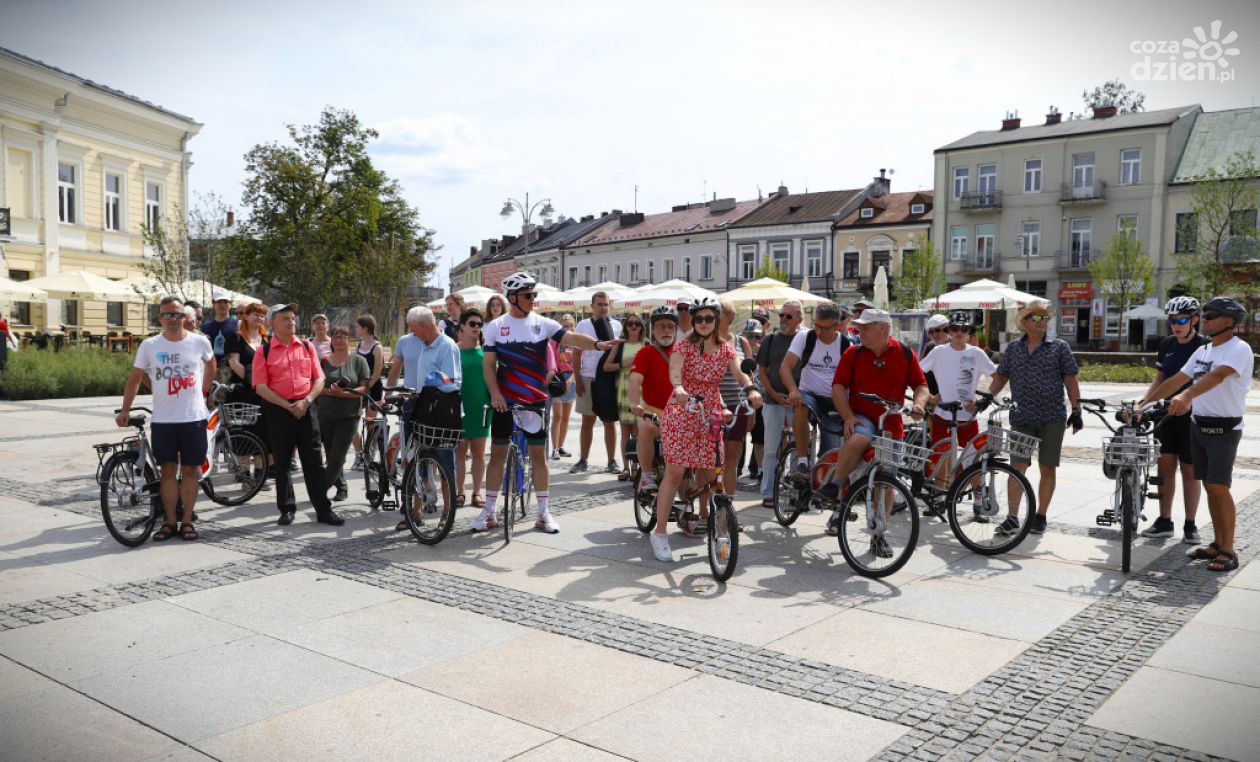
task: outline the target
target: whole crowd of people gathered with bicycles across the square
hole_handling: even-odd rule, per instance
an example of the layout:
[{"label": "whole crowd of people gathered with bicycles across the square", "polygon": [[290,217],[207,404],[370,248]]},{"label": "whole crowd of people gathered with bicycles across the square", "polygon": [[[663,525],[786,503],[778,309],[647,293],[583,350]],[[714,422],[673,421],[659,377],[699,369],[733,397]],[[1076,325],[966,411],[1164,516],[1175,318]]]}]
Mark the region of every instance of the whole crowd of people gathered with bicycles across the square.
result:
[{"label": "whole crowd of people gathered with bicycles across the square", "polygon": [[[756,310],[737,331],[735,305],[709,296],[617,320],[610,315],[607,295],[597,292],[591,317],[577,322],[572,315],[556,320],[534,310],[537,280],[528,272],[507,277],[501,291],[484,311],[450,295],[444,320],[425,306],[411,307],[408,333],[393,348],[387,377],[370,315],[360,316],[353,329],[316,315],[310,338],[304,339],[296,331],[297,305],[244,305],[231,317],[226,295],[217,293],[214,316],[198,324],[195,314],[188,314],[190,305],[163,300],[163,333],[141,344],[117,418],[120,426],[129,424],[132,401],[147,378],[166,514],[152,539],[197,538],[195,489],[179,491],[178,469],[205,456],[204,394],[215,378],[236,383],[233,401],[262,408],[256,427],[273,458],[280,524],[291,523],[296,513],[290,482],[295,452],[316,520],[343,523],[333,509],[348,496],[343,466],[353,447],[352,469],[363,467],[360,419],[375,414],[370,407],[364,413],[363,397],[379,401],[401,383],[418,393],[403,409],[404,441],[408,426],[432,417],[460,429],[459,445],[445,452],[444,466],[455,485],[456,505],[466,503],[471,482],[471,506],[480,509],[472,532],[498,525],[496,503],[514,429],[524,432],[537,501],[534,526],[559,532],[548,505],[549,469],[571,456],[564,442],[576,407],[582,423],[572,471],[590,469],[596,423],[602,423],[609,471],[627,481],[631,461],[641,466],[636,499],[655,503],[649,539],[654,557],[664,562],[673,560],[669,519],[684,474],[713,474],[713,492],[733,498],[750,437],[748,475],[759,482],[762,506],[774,508],[775,480],[784,476],[776,461],[781,437],[790,431],[795,443],[788,479],[808,484],[816,426],[816,452],[837,451],[832,477],[816,485],[818,491],[838,505],[872,441],[905,436],[902,416],[886,416],[876,399],[905,404],[911,419],[930,419],[930,442],[949,438],[956,427],[958,442],[965,446],[979,433],[975,416],[985,403],[976,392],[988,377],[989,394],[1009,390],[1016,402],[1012,428],[1038,442],[1037,510],[1024,519],[1031,525],[1023,526],[1017,515],[995,519],[998,534],[1013,534],[1046,530],[1065,435],[1084,426],[1077,363],[1066,341],[1048,335],[1052,314],[1046,306],[1019,311],[1023,334],[994,361],[976,345],[973,312],[965,310],[930,316],[929,340],[915,348],[893,335],[886,310],[867,301],[820,304],[806,327],[801,304],[789,300],[779,307],[776,329],[771,330],[766,310]],[[1215,529],[1213,542],[1191,557],[1208,560],[1212,571],[1228,571],[1237,567],[1230,484],[1252,377],[1251,349],[1235,336],[1246,311],[1231,297],[1201,305],[1188,296],[1169,300],[1164,311],[1172,335],[1160,344],[1158,374],[1140,401],[1167,401],[1168,421],[1155,431],[1163,489],[1159,516],[1143,534],[1176,533],[1172,509],[1179,476],[1183,539],[1200,542],[1196,515],[1202,491]],[[354,349],[352,334],[358,339]],[[654,463],[658,452],[664,460],[659,484],[653,477],[653,466],[660,465]],[[1032,465],[1031,456],[1012,461],[1019,471]],[[330,490],[335,490],[331,496]],[[183,515],[176,516],[180,504]],[[708,503],[699,508],[698,514],[677,518],[683,533],[701,530]],[[835,534],[840,520],[837,509],[827,533]],[[398,528],[406,529],[406,521]],[[885,553],[879,542],[872,540],[871,553]]]}]

